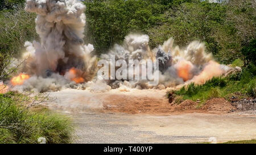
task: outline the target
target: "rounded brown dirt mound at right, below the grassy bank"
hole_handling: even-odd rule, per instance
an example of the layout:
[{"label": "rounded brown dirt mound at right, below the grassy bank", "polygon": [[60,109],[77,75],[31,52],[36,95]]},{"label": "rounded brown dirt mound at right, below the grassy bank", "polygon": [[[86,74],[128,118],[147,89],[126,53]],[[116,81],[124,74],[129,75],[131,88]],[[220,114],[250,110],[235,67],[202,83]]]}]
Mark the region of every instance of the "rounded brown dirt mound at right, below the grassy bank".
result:
[{"label": "rounded brown dirt mound at right, below the grassy bank", "polygon": [[232,106],[232,104],[224,98],[213,98],[208,100],[201,110],[209,112],[232,112],[236,110],[236,107]]}]

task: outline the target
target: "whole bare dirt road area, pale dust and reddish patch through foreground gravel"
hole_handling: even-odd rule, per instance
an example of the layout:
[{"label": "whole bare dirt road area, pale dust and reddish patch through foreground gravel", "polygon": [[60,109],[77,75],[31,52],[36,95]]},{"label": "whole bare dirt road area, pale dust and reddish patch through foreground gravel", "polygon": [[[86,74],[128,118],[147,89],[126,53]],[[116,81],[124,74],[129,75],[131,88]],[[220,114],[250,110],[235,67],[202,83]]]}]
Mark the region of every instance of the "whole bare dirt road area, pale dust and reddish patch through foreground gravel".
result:
[{"label": "whole bare dirt road area, pale dust and reddish patch through foreground gravel", "polygon": [[[47,105],[73,118],[75,143],[221,143],[256,139],[256,115],[170,114],[164,110],[169,105],[164,91],[62,90],[50,95],[56,100]],[[130,105],[122,107],[120,103]],[[126,112],[132,106],[136,110]],[[125,108],[127,114],[115,108]]]}]

